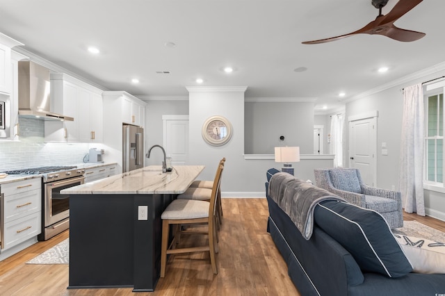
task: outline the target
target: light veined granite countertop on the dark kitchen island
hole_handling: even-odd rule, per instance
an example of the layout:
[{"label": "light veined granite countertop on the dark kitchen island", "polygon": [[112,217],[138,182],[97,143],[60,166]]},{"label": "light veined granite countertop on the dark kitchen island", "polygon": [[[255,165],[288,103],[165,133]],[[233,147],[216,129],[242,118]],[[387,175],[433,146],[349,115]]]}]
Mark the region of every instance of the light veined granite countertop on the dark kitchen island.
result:
[{"label": "light veined granite countertop on the dark kitchen island", "polygon": [[172,172],[162,172],[161,165],[109,176],[79,186],[61,190],[67,194],[180,194],[187,190],[204,165],[178,165]]}]

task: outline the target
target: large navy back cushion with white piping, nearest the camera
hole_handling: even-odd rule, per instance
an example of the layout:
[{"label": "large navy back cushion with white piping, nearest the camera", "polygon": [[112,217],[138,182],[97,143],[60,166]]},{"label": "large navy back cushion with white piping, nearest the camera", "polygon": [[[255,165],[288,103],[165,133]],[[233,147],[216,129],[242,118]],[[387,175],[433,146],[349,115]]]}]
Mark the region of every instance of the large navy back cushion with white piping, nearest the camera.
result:
[{"label": "large navy back cushion with white piping, nearest the camera", "polygon": [[316,206],[314,220],[353,255],[364,272],[403,277],[412,272],[401,246],[379,213],[353,204],[326,201]]}]

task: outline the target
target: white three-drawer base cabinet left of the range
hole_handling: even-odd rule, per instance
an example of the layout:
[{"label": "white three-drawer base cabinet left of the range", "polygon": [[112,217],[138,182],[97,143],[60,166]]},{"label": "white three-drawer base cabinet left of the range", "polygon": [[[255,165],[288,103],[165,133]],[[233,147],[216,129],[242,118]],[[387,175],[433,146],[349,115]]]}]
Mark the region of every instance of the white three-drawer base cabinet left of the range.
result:
[{"label": "white three-drawer base cabinet left of the range", "polygon": [[3,195],[2,250],[10,249],[42,232],[42,180],[5,183]]}]

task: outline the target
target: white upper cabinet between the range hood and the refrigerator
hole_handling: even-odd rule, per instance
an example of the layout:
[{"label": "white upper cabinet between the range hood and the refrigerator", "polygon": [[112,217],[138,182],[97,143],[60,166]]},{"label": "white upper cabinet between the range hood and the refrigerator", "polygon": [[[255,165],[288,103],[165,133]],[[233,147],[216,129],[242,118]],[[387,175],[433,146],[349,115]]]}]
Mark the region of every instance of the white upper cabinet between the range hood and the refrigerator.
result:
[{"label": "white upper cabinet between the range hood and the refrigerator", "polygon": [[51,74],[51,110],[72,122],[45,122],[45,142],[102,142],[102,90],[64,73]]}]

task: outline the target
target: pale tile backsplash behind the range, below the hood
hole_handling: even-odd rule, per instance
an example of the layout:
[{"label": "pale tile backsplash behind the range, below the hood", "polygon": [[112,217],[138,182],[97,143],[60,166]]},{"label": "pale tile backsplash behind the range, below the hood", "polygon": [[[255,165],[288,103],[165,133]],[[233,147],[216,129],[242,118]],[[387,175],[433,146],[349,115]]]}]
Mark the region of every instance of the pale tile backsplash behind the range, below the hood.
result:
[{"label": "pale tile backsplash behind the range, below the hood", "polygon": [[45,143],[44,122],[19,119],[19,141],[0,142],[0,172],[47,165],[83,163],[89,145],[85,143]]}]

